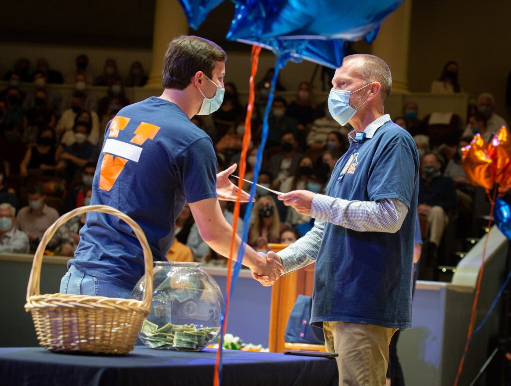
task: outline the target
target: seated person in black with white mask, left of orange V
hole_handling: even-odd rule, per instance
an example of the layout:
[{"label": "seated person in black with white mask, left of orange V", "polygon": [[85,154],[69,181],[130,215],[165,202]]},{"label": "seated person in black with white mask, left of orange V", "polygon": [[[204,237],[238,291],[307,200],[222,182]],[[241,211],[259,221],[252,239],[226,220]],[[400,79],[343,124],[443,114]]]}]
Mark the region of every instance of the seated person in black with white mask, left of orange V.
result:
[{"label": "seated person in black with white mask, left of orange V", "polygon": [[73,127],[73,132],[75,133],[75,142],[58,154],[57,169],[63,171],[68,181],[78,178],[82,167],[87,162],[96,163],[99,158],[98,148],[87,140],[90,126],[84,122],[77,122]]}]

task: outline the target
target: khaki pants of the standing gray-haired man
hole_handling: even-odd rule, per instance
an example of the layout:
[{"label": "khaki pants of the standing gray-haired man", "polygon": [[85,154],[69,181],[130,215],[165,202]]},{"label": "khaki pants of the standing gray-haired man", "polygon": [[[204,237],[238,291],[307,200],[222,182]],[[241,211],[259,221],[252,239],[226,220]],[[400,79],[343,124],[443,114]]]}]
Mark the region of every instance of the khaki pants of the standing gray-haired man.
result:
[{"label": "khaki pants of the standing gray-haired man", "polygon": [[397,330],[373,324],[323,322],[325,348],[339,354],[339,386],[384,386],[388,345]]}]

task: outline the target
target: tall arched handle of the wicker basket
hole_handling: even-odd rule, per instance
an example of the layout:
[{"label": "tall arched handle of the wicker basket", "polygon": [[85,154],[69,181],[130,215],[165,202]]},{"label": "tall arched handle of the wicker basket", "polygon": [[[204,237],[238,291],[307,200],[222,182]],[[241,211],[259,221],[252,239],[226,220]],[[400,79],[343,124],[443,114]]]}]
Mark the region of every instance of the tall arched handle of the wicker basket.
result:
[{"label": "tall arched handle of the wicker basket", "polygon": [[145,267],[145,276],[144,281],[146,291],[144,291],[144,295],[142,297],[142,303],[145,308],[149,309],[151,307],[152,294],[153,294],[153,254],[151,249],[149,248],[149,244],[147,243],[146,235],[144,231],[138,226],[137,223],[133,219],[130,218],[127,214],[119,211],[118,209],[112,208],[108,205],[86,205],[81,206],[79,208],[73,209],[63,215],[61,215],[55,223],[53,223],[47,230],[44,232],[39,246],[35,251],[34,261],[32,263],[32,270],[30,271],[29,284],[27,287],[27,302],[29,302],[29,298],[33,295],[39,295],[40,288],[40,279],[41,279],[41,263],[42,257],[44,254],[44,249],[46,245],[53,237],[57,229],[65,223],[67,220],[72,217],[83,214],[89,211],[102,212],[112,214],[117,216],[121,220],[123,220],[126,224],[128,224],[133,232],[135,233],[138,242],[142,245],[142,251],[144,253],[144,267]]}]

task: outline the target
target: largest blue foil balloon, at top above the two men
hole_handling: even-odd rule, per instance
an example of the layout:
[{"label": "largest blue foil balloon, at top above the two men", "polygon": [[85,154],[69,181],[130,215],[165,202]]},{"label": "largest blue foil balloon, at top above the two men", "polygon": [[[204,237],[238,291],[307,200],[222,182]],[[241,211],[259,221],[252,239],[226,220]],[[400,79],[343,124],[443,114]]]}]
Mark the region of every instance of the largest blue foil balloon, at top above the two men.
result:
[{"label": "largest blue foil balloon, at top above the two men", "polygon": [[[231,40],[359,40],[377,29],[403,0],[234,0]],[[369,35],[368,35],[369,34]]]}]

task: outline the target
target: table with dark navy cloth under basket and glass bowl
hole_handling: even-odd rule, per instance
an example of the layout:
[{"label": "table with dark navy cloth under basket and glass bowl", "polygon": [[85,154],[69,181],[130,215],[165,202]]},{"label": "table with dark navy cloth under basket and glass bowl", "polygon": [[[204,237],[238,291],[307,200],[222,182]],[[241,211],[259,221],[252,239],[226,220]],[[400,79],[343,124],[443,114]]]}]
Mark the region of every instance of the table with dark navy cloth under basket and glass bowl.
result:
[{"label": "table with dark navy cloth under basket and glass bowl", "polygon": [[[126,356],[0,348],[0,385],[213,385],[216,349],[199,352],[135,346]],[[222,386],[337,385],[335,359],[223,351]]]}]

